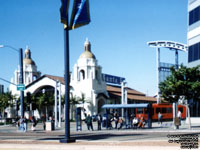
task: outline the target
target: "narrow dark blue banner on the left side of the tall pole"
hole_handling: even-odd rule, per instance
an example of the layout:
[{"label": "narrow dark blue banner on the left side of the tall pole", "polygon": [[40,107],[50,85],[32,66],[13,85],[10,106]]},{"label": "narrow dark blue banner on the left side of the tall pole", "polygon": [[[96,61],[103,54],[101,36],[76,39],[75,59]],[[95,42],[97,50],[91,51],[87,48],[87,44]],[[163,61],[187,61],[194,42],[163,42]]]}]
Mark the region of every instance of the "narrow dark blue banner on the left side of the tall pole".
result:
[{"label": "narrow dark blue banner on the left side of the tall pole", "polygon": [[62,5],[60,7],[60,22],[68,25],[68,8],[69,0],[61,0]]}]

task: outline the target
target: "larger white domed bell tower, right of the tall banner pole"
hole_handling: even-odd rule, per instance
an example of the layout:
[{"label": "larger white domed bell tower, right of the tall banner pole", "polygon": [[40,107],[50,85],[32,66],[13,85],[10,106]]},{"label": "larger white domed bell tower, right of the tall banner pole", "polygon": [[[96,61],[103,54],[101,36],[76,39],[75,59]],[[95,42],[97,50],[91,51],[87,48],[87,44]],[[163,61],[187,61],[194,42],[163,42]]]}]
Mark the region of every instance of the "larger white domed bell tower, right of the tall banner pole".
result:
[{"label": "larger white domed bell tower, right of the tall banner pole", "polygon": [[88,39],[84,43],[84,52],[73,67],[70,86],[76,97],[84,95],[87,101],[84,109],[87,114],[101,113],[101,106],[106,103],[109,96],[102,78],[102,67],[98,65]]}]

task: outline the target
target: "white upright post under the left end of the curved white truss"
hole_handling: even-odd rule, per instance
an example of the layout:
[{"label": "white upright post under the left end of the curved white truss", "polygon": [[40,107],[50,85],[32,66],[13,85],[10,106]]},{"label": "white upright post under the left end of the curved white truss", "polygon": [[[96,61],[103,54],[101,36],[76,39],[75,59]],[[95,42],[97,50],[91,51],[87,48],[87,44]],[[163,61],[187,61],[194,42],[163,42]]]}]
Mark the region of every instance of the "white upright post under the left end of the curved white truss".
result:
[{"label": "white upright post under the left end of the curved white truss", "polygon": [[157,48],[157,104],[160,103],[160,48]]}]

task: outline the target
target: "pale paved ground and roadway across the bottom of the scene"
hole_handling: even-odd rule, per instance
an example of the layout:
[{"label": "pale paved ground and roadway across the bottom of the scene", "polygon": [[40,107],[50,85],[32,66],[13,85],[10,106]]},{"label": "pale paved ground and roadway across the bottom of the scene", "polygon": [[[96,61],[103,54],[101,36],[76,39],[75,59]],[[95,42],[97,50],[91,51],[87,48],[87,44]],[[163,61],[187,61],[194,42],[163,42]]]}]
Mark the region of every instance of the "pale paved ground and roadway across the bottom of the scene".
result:
[{"label": "pale paved ground and roadway across the bottom of the scene", "polygon": [[[172,122],[164,122],[162,125],[152,124],[151,129],[122,129],[107,130],[103,128],[97,131],[88,131],[83,124],[82,131],[76,131],[75,123],[71,123],[71,137],[75,143],[63,144],[59,140],[64,138],[64,124],[62,128],[54,131],[43,131],[42,124],[38,124],[36,131],[24,133],[13,126],[0,126],[0,150],[31,150],[31,149],[180,149],[180,143],[169,143],[169,135],[200,135],[200,124],[188,125],[182,122],[178,130],[174,129]],[[172,138],[171,138],[172,139]],[[199,144],[199,143],[198,143]]]}]

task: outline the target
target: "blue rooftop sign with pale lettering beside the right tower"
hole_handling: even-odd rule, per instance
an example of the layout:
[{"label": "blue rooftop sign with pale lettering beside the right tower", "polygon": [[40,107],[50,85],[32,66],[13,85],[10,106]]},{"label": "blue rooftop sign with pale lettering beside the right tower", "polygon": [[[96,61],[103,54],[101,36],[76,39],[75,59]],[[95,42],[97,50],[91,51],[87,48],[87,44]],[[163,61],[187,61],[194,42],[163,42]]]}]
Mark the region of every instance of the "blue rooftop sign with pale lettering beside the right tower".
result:
[{"label": "blue rooftop sign with pale lettering beside the right tower", "polygon": [[120,85],[122,81],[125,80],[123,77],[118,77],[118,76],[113,76],[109,74],[102,74],[103,79],[106,83],[111,83],[111,84],[118,84]]}]

